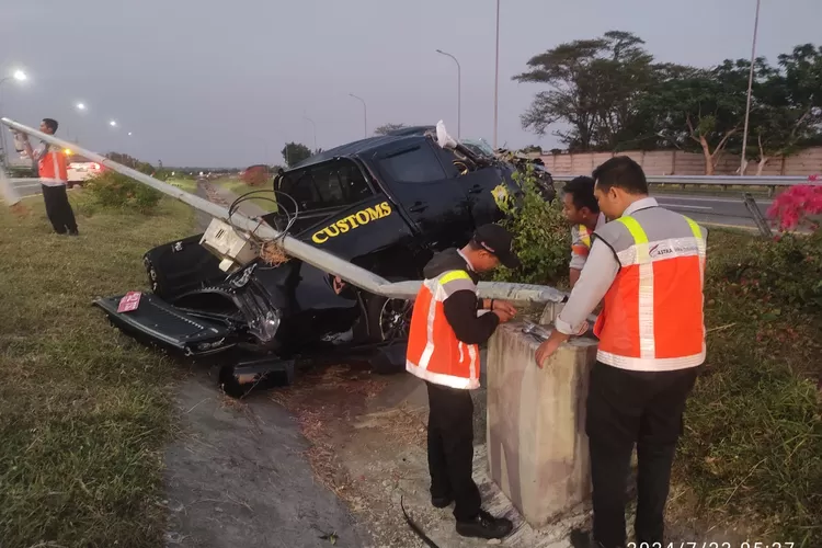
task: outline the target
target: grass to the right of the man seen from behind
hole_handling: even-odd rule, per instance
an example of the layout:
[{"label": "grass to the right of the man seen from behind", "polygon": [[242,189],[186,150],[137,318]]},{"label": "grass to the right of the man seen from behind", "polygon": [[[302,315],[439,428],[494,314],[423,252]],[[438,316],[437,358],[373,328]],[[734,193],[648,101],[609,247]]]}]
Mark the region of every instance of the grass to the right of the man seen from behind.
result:
[{"label": "grass to the right of the man seen from behind", "polygon": [[728,275],[763,242],[715,229],[708,243],[708,361],[688,402],[676,477],[712,520],[822,546],[822,321]]}]

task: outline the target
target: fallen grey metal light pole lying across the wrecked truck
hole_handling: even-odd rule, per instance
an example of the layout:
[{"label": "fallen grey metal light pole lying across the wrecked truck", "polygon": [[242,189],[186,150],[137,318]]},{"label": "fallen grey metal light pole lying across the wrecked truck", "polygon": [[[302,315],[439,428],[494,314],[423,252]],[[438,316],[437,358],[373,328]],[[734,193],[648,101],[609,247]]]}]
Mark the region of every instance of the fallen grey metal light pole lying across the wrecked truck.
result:
[{"label": "fallen grey metal light pole lying across the wrecked truck", "polygon": [[[207,199],[204,199],[194,194],[187,193],[158,179],[146,175],[145,173],[140,173],[137,170],[126,168],[125,165],[110,160],[104,156],[82,148],[76,142],[68,142],[53,135],[46,135],[42,132],[24,126],[23,124],[9,118],[0,118],[0,123],[9,126],[16,132],[36,137],[48,144],[57,145],[61,148],[70,147],[77,155],[82,156],[83,158],[94,160],[95,162],[105,165],[112,171],[116,171],[126,176],[129,176],[139,183],[142,183],[155,189],[156,191],[159,191],[185,204],[189,204],[195,209],[206,213],[212,217],[221,219],[226,222],[230,222],[235,227],[247,230],[250,233],[265,239],[277,239],[283,247],[283,250],[287,254],[299,259],[310,264],[311,266],[316,266],[317,269],[320,269],[321,271],[324,271],[329,274],[339,276],[350,284],[365,289],[368,293],[381,295],[383,297],[387,298],[413,299],[416,297],[416,293],[419,292],[420,285],[422,284],[421,281],[391,283],[384,277],[378,276],[370,271],[356,266],[347,261],[344,261],[343,259],[340,259],[332,253],[321,251],[290,236],[282,235],[279,231],[264,224],[264,221],[262,221],[261,219],[252,219],[238,212],[235,212],[229,219],[227,208],[208,202]],[[510,284],[502,282],[480,282],[479,295],[483,298],[529,302],[561,302],[567,296],[564,293],[553,287],[530,284]]]}]

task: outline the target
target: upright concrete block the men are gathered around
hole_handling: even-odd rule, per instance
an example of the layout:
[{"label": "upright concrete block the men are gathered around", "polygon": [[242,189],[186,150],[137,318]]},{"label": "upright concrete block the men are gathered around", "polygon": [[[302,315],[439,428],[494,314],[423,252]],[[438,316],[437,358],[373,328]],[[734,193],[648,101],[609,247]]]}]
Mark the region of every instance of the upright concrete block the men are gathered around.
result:
[{"label": "upright concrete block the men are gathered around", "polygon": [[596,340],[572,338],[539,369],[540,341],[501,326],[488,351],[491,479],[535,528],[561,520],[591,494],[585,435]]}]

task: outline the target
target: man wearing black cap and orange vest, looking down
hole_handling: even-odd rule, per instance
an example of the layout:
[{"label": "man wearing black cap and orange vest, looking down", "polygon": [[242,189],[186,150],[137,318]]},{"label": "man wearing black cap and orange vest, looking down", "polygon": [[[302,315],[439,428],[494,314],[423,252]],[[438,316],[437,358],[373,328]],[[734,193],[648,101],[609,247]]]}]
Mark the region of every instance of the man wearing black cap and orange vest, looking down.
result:
[{"label": "man wearing black cap and orange vest, looking down", "polygon": [[473,401],[479,388],[479,345],[515,313],[511,304],[479,299],[479,274],[503,264],[520,266],[511,235],[484,225],[460,250],[434,255],[425,266],[414,300],[406,368],[429,389],[429,470],[431,503],[454,505],[457,533],[466,537],[502,538],[513,528],[509,520],[481,509],[473,468]]}]

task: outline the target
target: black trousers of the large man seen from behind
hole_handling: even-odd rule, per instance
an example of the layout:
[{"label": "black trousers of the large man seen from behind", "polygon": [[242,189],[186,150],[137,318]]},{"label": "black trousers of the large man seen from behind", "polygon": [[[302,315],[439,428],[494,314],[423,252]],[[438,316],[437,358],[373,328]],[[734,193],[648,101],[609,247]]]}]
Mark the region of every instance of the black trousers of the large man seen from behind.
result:
[{"label": "black trousers of the large man seen from behind", "polygon": [[[594,539],[624,547],[630,457],[637,446],[637,543],[663,543],[664,511],[685,400],[697,367],[649,373],[596,362],[591,372],[585,430],[591,449]],[[663,545],[664,546],[664,545]]]}]

